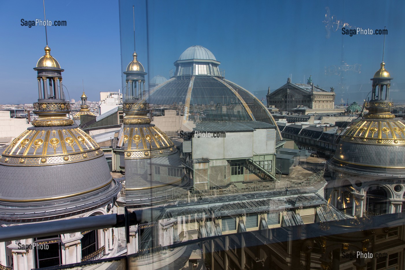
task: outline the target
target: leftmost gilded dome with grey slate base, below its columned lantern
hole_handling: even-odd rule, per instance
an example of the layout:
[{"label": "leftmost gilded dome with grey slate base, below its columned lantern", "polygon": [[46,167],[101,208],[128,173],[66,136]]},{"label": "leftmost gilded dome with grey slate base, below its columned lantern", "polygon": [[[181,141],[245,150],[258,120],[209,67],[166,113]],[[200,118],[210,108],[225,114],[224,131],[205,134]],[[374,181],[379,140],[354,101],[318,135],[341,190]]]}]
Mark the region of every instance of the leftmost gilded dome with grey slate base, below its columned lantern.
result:
[{"label": "leftmost gilded dome with grey slate base, below its columned lantern", "polygon": [[0,201],[42,201],[114,185],[100,146],[78,126],[31,127],[0,156]]}]

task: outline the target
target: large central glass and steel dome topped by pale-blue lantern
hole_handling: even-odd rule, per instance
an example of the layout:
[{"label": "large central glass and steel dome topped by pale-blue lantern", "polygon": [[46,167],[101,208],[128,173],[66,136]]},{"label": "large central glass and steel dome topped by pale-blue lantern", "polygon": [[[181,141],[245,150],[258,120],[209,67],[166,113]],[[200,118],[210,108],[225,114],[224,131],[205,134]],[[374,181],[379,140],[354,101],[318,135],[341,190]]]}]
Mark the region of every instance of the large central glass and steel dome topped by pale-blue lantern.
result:
[{"label": "large central glass and steel dome topped by pale-blue lantern", "polygon": [[[269,110],[256,96],[224,78],[218,68],[220,62],[211,54],[201,46],[186,49],[175,62],[171,79],[151,90],[148,103],[152,107],[179,111],[188,124],[251,120],[277,127]],[[199,58],[204,58],[204,62]],[[277,133],[280,140],[281,135]]]}]

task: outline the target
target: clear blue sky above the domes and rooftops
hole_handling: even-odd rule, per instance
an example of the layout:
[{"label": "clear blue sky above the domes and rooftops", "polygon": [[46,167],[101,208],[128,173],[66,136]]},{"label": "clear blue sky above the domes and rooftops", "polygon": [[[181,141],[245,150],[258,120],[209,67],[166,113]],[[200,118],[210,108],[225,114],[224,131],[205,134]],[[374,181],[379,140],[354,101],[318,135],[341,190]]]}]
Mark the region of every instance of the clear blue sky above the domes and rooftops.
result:
[{"label": "clear blue sky above the domes and rooftops", "polygon": [[[65,69],[62,75],[70,99],[79,99],[82,79],[90,101],[98,101],[100,91],[123,88],[122,69],[132,60],[135,5],[136,52],[147,79],[154,75],[168,79],[180,54],[192,45],[202,45],[221,62],[226,79],[251,92],[268,86],[275,90],[290,74],[295,83],[306,82],[312,75],[315,85],[336,89],[337,101],[361,101],[382,61],[383,36],[344,36],[343,60],[361,64],[361,73],[344,73],[342,91],[339,76],[325,75],[325,66],[339,66],[342,60],[341,29],[331,30],[326,38],[328,7],[334,21],[373,30],[386,26],[384,62],[394,77],[391,97],[405,101],[400,92],[405,91],[404,1],[151,0],[147,11],[144,0],[48,0],[45,5],[48,19],[67,21],[67,26],[48,27],[48,43],[51,55]],[[2,1],[0,15],[0,90],[4,93],[0,103],[32,103],[38,92],[32,68],[44,54],[45,29],[20,24],[21,19],[43,19],[42,1]]]}]

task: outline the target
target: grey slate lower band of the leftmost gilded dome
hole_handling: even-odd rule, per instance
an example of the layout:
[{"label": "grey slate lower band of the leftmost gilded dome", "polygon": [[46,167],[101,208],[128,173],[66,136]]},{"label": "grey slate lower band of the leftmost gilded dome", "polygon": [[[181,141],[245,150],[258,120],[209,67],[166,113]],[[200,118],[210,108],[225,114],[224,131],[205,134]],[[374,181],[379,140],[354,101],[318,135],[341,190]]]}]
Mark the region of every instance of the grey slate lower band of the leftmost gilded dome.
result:
[{"label": "grey slate lower band of the leftmost gilded dome", "polygon": [[50,166],[0,165],[0,199],[40,199],[89,191],[111,180],[104,156]]}]

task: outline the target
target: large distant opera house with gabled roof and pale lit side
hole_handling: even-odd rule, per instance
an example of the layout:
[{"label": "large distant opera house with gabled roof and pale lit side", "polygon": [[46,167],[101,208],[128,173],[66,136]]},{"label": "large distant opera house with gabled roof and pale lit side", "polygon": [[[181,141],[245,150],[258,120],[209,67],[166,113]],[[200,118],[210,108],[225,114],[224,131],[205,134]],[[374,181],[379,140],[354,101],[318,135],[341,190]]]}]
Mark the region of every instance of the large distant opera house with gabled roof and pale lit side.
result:
[{"label": "large distant opera house with gabled roof and pale lit side", "polygon": [[344,109],[335,108],[335,92],[314,86],[311,77],[307,84],[293,84],[288,78],[287,83],[274,92],[268,91],[266,99],[268,107],[274,105],[280,111],[298,114],[344,112]]}]

